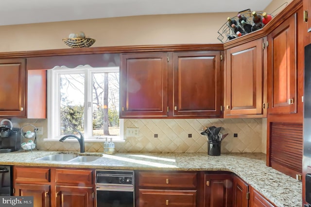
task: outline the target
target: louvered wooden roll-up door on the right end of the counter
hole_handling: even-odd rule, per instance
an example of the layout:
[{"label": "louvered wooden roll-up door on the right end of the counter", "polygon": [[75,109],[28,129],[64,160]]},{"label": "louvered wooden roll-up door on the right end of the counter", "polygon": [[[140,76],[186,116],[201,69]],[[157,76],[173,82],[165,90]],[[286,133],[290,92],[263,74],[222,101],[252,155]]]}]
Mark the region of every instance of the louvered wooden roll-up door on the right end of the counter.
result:
[{"label": "louvered wooden roll-up door on the right end of the counter", "polygon": [[302,123],[272,122],[271,167],[288,175],[302,173]]}]

